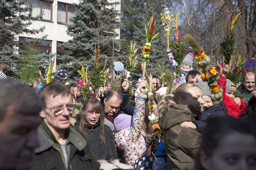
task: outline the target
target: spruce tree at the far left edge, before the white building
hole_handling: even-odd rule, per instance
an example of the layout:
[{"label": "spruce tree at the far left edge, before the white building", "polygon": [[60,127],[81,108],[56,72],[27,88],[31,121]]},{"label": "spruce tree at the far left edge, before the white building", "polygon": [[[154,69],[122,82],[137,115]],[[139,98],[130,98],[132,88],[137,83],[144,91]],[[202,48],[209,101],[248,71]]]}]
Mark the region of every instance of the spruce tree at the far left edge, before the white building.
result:
[{"label": "spruce tree at the far left edge, before the white building", "polygon": [[[24,15],[32,10],[31,7],[25,7],[26,0],[0,0],[0,2],[0,66],[6,75],[11,76],[16,70],[15,62],[19,47],[18,36],[38,34],[44,28],[28,29],[32,21],[40,19],[40,16]],[[25,43],[29,41],[33,41],[33,39],[24,40]]]}]

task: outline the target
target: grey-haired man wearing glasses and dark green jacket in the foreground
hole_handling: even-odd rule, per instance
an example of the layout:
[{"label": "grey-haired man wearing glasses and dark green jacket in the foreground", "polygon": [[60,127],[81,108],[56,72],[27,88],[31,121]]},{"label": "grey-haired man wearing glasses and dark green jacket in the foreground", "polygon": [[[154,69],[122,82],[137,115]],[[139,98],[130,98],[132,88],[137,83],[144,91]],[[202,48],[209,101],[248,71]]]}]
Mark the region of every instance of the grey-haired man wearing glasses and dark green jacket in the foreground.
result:
[{"label": "grey-haired man wearing glasses and dark green jacket in the foreground", "polygon": [[70,127],[75,106],[69,89],[52,82],[40,89],[39,96],[44,104],[40,113],[43,122],[31,169],[99,169],[83,135]]}]

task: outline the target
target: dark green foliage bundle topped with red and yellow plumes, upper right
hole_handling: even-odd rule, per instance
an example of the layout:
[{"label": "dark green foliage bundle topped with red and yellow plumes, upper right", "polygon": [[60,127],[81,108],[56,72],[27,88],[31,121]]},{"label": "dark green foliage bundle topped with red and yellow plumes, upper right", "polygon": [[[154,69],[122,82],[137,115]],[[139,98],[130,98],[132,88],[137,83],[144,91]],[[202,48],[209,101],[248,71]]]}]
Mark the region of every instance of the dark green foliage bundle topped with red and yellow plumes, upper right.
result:
[{"label": "dark green foliage bundle topped with red and yellow plumes, upper right", "polygon": [[237,48],[233,31],[230,31],[225,35],[224,40],[219,42],[219,46],[221,47],[221,53],[224,55],[224,64],[229,64],[231,56]]}]

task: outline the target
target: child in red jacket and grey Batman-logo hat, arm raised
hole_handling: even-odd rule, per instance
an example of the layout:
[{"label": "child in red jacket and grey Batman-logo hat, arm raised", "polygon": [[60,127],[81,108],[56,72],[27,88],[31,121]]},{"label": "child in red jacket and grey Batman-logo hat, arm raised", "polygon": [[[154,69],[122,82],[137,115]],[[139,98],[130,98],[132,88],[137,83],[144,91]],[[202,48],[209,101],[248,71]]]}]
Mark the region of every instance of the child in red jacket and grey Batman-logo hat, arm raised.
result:
[{"label": "child in red jacket and grey Batman-logo hat, arm raised", "polygon": [[235,118],[245,111],[246,103],[236,95],[236,85],[230,80],[226,79],[226,74],[229,71],[229,65],[223,67],[222,73],[218,79],[218,85],[223,90],[223,102],[226,104],[228,115]]}]

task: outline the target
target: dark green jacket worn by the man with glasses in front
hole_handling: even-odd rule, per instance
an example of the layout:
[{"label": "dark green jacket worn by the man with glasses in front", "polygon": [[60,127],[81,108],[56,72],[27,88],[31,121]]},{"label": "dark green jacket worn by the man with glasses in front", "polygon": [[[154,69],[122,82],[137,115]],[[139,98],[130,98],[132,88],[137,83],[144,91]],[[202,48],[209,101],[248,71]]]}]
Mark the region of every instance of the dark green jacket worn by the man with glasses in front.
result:
[{"label": "dark green jacket worn by the man with glasses in front", "polygon": [[68,167],[66,167],[59,142],[43,121],[38,128],[40,146],[35,149],[31,169],[96,170],[100,168],[100,163],[96,162],[91,156],[87,142],[80,132],[73,127],[69,127],[66,129],[65,135],[67,137]]}]

